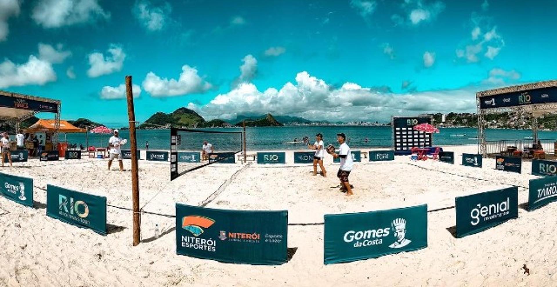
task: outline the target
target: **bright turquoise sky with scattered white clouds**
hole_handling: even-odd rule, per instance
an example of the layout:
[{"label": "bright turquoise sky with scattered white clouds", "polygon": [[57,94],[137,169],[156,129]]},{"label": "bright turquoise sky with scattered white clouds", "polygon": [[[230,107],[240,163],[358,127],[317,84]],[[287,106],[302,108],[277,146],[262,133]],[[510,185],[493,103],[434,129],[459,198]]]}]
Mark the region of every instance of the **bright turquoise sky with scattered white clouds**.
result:
[{"label": "bright turquoise sky with scattered white clouds", "polygon": [[[380,121],[475,112],[475,93],[557,78],[557,1],[0,0],[0,90],[62,119],[179,107]],[[52,115],[40,115],[48,118]]]}]

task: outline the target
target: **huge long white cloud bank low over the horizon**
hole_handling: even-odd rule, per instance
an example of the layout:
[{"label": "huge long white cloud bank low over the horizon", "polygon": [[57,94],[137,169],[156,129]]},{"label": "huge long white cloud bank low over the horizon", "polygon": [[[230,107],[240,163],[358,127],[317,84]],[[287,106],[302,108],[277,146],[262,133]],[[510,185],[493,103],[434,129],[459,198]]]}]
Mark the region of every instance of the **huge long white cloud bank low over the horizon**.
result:
[{"label": "huge long white cloud bank low over the horizon", "polygon": [[280,89],[259,91],[252,83],[242,83],[207,105],[190,103],[188,107],[208,118],[228,119],[248,112],[271,112],[310,120],[389,120],[390,116],[399,114],[475,111],[476,89],[395,94],[352,82],[333,88],[307,72],[300,72],[295,83],[287,82]]}]

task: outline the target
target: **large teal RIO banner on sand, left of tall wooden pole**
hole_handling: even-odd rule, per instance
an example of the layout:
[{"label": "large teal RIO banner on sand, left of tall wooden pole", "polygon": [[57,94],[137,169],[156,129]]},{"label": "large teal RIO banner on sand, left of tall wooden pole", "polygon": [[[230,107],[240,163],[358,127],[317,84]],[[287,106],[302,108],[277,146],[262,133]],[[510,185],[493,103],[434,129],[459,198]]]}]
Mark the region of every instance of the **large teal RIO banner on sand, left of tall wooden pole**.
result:
[{"label": "large teal RIO banner on sand, left of tall wooden pole", "polygon": [[106,197],[47,185],[46,215],[106,235]]}]

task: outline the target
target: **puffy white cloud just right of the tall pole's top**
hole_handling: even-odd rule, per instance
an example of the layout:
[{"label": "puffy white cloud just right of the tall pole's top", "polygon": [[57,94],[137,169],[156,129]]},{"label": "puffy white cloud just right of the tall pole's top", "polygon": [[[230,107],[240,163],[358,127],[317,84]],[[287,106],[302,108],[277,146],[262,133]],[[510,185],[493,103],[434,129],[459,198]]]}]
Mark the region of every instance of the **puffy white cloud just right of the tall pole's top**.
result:
[{"label": "puffy white cloud just right of the tall pole's top", "polygon": [[149,72],[141,84],[143,90],[154,97],[170,97],[188,95],[190,93],[203,93],[211,89],[211,83],[203,80],[197,74],[196,68],[188,65],[182,66],[182,73],[178,81],[168,78],[160,78],[153,72]]}]

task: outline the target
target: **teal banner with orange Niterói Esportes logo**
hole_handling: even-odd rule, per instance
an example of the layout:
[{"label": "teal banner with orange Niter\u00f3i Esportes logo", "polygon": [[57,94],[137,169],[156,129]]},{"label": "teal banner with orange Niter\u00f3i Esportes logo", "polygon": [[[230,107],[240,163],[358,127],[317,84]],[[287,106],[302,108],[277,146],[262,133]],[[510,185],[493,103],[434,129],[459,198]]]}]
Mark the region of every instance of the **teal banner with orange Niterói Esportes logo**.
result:
[{"label": "teal banner with orange Niter\u00f3i Esportes logo", "polygon": [[288,211],[240,211],[176,204],[176,253],[228,263],[287,260]]}]

